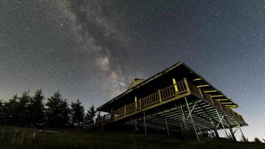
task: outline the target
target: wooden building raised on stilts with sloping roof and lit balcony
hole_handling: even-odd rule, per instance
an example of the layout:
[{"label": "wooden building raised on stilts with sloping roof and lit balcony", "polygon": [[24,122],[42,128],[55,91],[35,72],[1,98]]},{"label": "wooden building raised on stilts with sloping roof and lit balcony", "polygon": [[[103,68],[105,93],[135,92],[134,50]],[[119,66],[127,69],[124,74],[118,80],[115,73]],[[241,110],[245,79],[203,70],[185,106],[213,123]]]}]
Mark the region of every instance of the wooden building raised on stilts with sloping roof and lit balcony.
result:
[{"label": "wooden building raised on stilts with sloping roof and lit balcony", "polygon": [[[109,113],[102,117],[103,128],[115,124],[131,125],[136,130],[235,131],[247,126],[233,108],[238,104],[227,98],[183,62],[146,80],[134,79],[128,90],[97,108]],[[236,128],[233,131],[233,128]],[[241,131],[241,129],[240,129]],[[242,132],[242,131],[241,131]]]}]

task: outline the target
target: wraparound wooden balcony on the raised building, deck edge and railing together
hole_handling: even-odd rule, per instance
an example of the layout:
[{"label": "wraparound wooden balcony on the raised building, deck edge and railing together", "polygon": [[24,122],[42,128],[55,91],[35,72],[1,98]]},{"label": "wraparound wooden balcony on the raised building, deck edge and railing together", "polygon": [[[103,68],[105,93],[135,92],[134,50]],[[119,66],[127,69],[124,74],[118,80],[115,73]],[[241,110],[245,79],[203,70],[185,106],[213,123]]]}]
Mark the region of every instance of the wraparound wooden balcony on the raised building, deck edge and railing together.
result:
[{"label": "wraparound wooden balcony on the raised building, deck edge and railing together", "polygon": [[112,110],[111,113],[102,117],[103,122],[114,122],[121,120],[125,117],[132,116],[141,111],[154,108],[156,106],[162,105],[164,103],[170,102],[172,99],[181,99],[188,95],[194,95],[198,99],[202,99],[205,102],[211,104],[216,109],[219,109],[231,117],[245,123],[242,116],[234,112],[232,109],[228,108],[220,101],[212,99],[212,97],[201,91],[199,87],[194,85],[192,82],[188,81],[186,78],[179,82],[175,82],[173,85],[159,89],[158,91],[137,99],[135,96],[135,102],[126,104],[118,109]]}]

